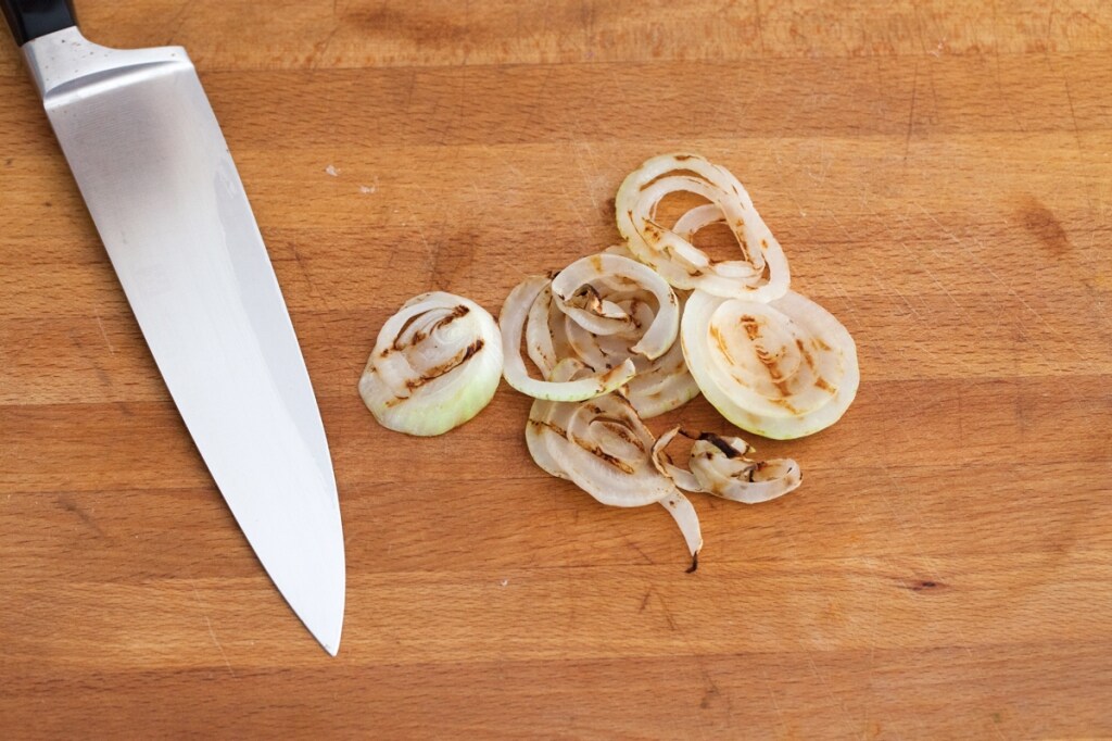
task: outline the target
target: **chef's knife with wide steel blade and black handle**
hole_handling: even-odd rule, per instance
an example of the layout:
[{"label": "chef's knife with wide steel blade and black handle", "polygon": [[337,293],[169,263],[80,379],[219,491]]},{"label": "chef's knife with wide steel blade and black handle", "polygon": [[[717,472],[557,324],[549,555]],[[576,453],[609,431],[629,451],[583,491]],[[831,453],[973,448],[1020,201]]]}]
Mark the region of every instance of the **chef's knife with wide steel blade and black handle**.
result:
[{"label": "chef's knife with wide steel blade and black handle", "polygon": [[68,0],[0,6],[212,478],[275,585],[335,655],[345,566],[328,443],[262,237],[189,57],[180,47],[91,43]]}]

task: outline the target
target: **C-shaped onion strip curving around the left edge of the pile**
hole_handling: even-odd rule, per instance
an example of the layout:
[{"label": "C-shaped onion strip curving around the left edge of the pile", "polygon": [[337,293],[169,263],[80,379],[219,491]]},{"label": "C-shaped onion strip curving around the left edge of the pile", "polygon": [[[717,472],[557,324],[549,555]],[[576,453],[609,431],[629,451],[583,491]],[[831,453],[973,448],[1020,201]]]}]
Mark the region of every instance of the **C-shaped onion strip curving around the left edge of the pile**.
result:
[{"label": "C-shaped onion strip curving around the left edge of the pile", "polygon": [[[629,381],[636,373],[633,360],[629,359],[617,367],[600,370],[586,377],[576,378],[575,381],[537,381],[529,377],[529,372],[525,367],[525,359],[522,357],[522,337],[525,334],[525,323],[533,303],[540,296],[549,283],[549,279],[545,276],[526,278],[509,292],[506,303],[503,304],[499,320],[506,355],[504,367],[506,382],[517,391],[534,398],[555,402],[579,402],[612,392]],[[538,356],[542,355],[544,353],[538,352]],[[546,368],[540,366],[540,369],[544,372]]]}]

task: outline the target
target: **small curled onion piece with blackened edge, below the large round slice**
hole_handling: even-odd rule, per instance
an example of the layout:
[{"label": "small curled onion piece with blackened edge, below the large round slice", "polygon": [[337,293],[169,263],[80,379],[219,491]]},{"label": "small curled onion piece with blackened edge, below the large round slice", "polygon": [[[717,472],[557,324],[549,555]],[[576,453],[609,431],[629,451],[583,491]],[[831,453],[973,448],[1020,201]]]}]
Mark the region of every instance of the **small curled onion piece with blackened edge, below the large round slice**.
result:
[{"label": "small curled onion piece with blackened edge, below the large round slice", "polygon": [[[695,439],[688,467],[674,465],[664,451],[683,434]],[[693,435],[679,427],[667,431],[653,446],[657,471],[688,492],[704,492],[734,502],[758,504],[795,491],[803,483],[800,464],[791,458],[753,461],[746,457],[753,447],[741,437],[719,437],[713,433]]]}]

